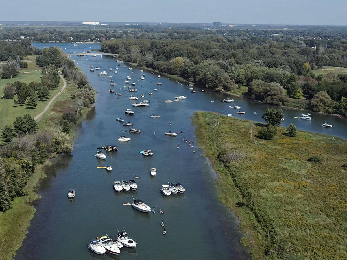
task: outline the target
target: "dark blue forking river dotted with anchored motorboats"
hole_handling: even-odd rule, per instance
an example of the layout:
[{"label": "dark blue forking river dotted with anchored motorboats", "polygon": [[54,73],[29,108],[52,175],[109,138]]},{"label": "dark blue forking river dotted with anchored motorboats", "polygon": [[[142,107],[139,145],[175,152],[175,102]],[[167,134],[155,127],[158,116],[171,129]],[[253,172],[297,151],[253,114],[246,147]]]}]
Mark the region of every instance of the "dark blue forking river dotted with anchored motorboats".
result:
[{"label": "dark blue forking river dotted with anchored motorboats", "polygon": [[[74,47],[69,43],[33,45],[41,48],[58,45],[66,53],[81,53],[101,46],[79,44]],[[157,73],[141,72],[138,67],[133,66],[129,70],[129,64],[117,63],[116,59],[105,55],[103,58],[72,58],[98,91],[97,101],[95,108],[77,129],[74,151],[57,157],[52,165],[44,167],[47,178],[38,187],[41,199],[35,202],[37,211],[16,259],[249,259],[248,249],[240,244],[242,233],[238,228],[238,220],[218,200],[214,185],[216,175],[195,142],[191,116],[197,110],[204,110],[231,113],[238,118],[263,122],[261,115],[269,106],[232,97],[235,105],[246,112],[238,115],[235,109],[228,107],[233,103],[220,102],[225,94],[207,89],[203,93],[199,88],[193,94],[185,85],[176,84],[164,76],[159,79]],[[100,67],[100,71],[105,70],[113,77],[98,76],[98,71],[91,72],[89,65]],[[116,68],[117,74],[114,73]],[[142,73],[145,73],[145,80],[138,81]],[[130,93],[127,87],[123,87],[126,76],[132,77],[130,81],[136,83],[137,92]],[[110,86],[110,79],[117,85]],[[162,83],[161,86],[157,85],[158,81]],[[110,88],[122,95],[117,99],[117,95],[108,91]],[[154,91],[155,88],[158,91]],[[149,92],[153,94],[149,95]],[[133,102],[128,99],[131,94],[139,97],[139,100],[149,99],[150,106],[132,107]],[[141,94],[145,97],[141,98]],[[172,103],[164,102],[180,95],[187,98]],[[135,114],[126,115],[124,112],[127,108]],[[253,111],[257,114],[253,114]],[[346,138],[344,119],[312,113],[314,119],[304,121],[294,118],[301,111],[284,108],[283,112],[284,126],[295,123],[298,129]],[[151,118],[151,114],[158,114],[161,118]],[[118,117],[134,123],[134,127],[140,128],[141,133],[124,132],[128,127],[115,121]],[[320,125],[325,121],[332,124],[333,128],[322,128]],[[183,133],[170,137],[164,135],[166,131]],[[119,142],[117,139],[121,135],[132,140]],[[194,140],[194,147],[189,147],[183,138]],[[108,144],[117,145],[118,151],[105,151],[105,161],[96,159],[96,147]],[[139,151],[143,149],[153,150],[153,156],[141,155]],[[193,150],[196,152],[193,153]],[[112,166],[111,172],[96,168],[107,165]],[[151,167],[157,169],[154,177],[149,174]],[[132,180],[135,175],[140,176],[136,179],[136,191],[113,191],[114,180]],[[164,197],[159,190],[162,183],[169,181],[182,183],[185,193]],[[67,200],[70,188],[76,189],[74,201]],[[155,207],[156,213],[141,213],[122,205],[132,202],[132,197]],[[164,210],[163,215],[158,213],[160,207]],[[162,234],[161,220],[166,223],[165,236]],[[119,256],[100,256],[87,249],[89,240],[106,233],[116,236],[117,229],[121,231],[122,228],[137,241],[136,250],[121,249]]]}]

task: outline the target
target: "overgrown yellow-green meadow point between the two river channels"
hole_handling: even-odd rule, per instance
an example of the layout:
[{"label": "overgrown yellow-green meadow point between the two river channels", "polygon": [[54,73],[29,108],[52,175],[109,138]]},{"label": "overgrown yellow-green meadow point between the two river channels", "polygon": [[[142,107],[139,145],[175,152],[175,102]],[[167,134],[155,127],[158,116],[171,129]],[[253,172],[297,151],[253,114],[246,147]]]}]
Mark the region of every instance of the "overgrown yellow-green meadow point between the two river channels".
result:
[{"label": "overgrown yellow-green meadow point between the two river channels", "polygon": [[[251,121],[196,112],[193,123],[253,258],[345,257],[346,140],[306,131],[287,137],[280,127],[274,140],[254,144]],[[323,161],[309,162],[315,155]]]}]

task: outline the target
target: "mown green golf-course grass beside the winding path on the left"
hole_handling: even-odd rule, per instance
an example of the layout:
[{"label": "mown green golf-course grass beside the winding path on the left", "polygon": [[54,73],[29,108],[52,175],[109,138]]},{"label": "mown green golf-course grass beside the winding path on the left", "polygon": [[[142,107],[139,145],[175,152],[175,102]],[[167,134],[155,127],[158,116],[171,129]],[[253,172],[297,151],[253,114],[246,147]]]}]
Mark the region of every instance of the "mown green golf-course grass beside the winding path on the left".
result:
[{"label": "mown green golf-course grass beside the winding path on the left", "polygon": [[[24,73],[24,72],[30,72],[30,73]],[[19,71],[19,76],[16,78],[11,79],[0,79],[0,96],[3,96],[3,87],[6,86],[7,83],[14,83],[15,81],[25,82],[27,84],[31,83],[32,81],[40,82],[41,81],[41,69],[34,69],[34,70],[28,70],[28,69],[21,69]],[[50,98],[52,98],[55,94],[57,94],[61,87],[62,87],[62,80],[60,80],[59,87],[56,90],[50,91]],[[15,98],[17,96],[15,95]],[[0,120],[0,129],[2,129],[7,124],[12,124],[12,122],[16,119],[18,115],[25,115],[29,114],[32,117],[39,114],[41,111],[44,110],[45,106],[50,101],[38,101],[36,109],[31,109],[30,107],[27,107],[26,105],[15,107],[13,103],[13,99],[0,99],[0,114],[1,114],[1,120]]]}]

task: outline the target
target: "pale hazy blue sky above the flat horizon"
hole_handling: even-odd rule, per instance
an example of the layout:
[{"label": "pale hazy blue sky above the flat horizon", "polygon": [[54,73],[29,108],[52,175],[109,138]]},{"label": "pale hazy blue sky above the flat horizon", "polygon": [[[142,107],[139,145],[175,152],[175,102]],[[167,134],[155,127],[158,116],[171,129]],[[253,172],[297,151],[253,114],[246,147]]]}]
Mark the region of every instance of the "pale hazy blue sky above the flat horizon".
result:
[{"label": "pale hazy blue sky above the flat horizon", "polygon": [[2,21],[105,21],[347,25],[347,1],[313,0],[15,0]]}]

